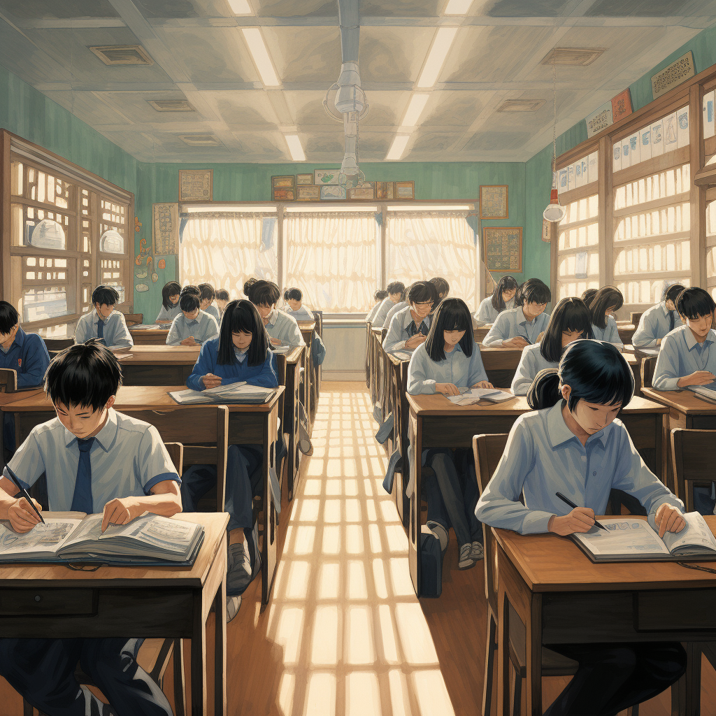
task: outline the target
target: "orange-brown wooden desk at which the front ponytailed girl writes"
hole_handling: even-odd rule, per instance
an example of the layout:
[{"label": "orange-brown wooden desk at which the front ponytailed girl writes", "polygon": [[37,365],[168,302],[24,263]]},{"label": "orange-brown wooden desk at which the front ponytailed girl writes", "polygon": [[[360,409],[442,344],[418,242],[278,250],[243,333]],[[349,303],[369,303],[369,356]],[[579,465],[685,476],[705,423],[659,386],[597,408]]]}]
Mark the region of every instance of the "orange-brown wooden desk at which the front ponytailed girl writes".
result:
[{"label": "orange-brown wooden desk at which the front ponytailed girl writes", "polygon": [[[716,531],[716,517],[705,519]],[[525,712],[533,715],[542,713],[543,644],[716,640],[714,574],[675,562],[595,564],[568,538],[492,532],[498,543],[498,714],[510,705],[503,649],[510,629],[526,630]],[[713,569],[716,562],[704,565]],[[510,623],[510,608],[522,624]],[[692,656],[687,674],[672,686],[672,714],[697,713],[701,660]]]}]

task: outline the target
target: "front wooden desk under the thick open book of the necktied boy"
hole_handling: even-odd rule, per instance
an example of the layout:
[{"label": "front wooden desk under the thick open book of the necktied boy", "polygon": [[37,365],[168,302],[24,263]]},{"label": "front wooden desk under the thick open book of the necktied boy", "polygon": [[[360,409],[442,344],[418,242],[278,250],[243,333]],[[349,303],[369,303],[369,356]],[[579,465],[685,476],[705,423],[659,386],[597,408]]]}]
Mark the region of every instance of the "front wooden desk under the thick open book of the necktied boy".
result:
[{"label": "front wooden desk under the thick open book of the necktied boy", "polygon": [[[64,564],[1,565],[1,633],[31,639],[191,639],[191,713],[203,716],[209,713],[206,622],[213,606],[213,712],[224,716],[228,515],[182,513],[177,519],[204,526],[204,541],[191,567],[100,566],[85,572]],[[45,595],[52,599],[42,599]]]}]

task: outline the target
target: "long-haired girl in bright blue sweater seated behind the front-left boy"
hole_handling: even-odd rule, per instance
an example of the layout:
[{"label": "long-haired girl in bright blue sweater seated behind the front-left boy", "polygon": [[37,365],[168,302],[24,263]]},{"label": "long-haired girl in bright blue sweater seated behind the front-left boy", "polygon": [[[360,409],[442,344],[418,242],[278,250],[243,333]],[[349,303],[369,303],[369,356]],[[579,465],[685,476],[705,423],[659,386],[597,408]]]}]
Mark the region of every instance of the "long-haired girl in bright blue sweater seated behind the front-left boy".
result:
[{"label": "long-haired girl in bright blue sweater seated behind the front-left boy", "polygon": [[[269,337],[256,306],[249,301],[231,301],[226,306],[221,333],[201,347],[199,359],[187,379],[193,390],[205,390],[245,380],[252,385],[275,388],[279,384],[276,358],[269,349]],[[261,569],[258,541],[253,526],[253,495],[261,490],[262,445],[230,445],[226,459],[227,531],[231,541],[246,537],[228,548],[226,578],[226,621],[241,606],[241,594]],[[216,485],[216,465],[194,465],[182,478],[185,510],[196,511],[198,501]],[[246,561],[250,563],[245,568]]]}]

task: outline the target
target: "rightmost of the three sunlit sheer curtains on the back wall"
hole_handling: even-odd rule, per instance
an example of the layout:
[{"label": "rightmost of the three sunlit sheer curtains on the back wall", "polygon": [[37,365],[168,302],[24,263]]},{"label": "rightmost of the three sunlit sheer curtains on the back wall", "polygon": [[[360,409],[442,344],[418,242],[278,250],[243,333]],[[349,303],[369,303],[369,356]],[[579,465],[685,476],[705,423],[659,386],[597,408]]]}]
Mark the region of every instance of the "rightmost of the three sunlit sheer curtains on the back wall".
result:
[{"label": "rightmost of the three sunlit sheer curtains on the back wall", "polygon": [[387,281],[427,281],[442,276],[450,296],[477,309],[478,252],[464,211],[389,211]]}]

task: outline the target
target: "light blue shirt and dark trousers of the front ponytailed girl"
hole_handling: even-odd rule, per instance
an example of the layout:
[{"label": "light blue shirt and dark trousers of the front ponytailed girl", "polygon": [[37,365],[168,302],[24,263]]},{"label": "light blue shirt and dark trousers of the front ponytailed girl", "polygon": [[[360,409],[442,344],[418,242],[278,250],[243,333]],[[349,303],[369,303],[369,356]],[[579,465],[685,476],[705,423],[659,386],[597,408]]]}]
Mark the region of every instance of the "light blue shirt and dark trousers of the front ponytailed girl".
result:
[{"label": "light blue shirt and dark trousers of the front ponytailed girl", "polygon": [[[621,420],[590,435],[582,445],[562,415],[562,401],[516,420],[493,478],[478,501],[480,521],[521,534],[545,533],[553,515],[571,511],[556,493],[604,514],[612,488],[633,495],[649,514],[667,503],[684,505],[657,479],[637,453]],[[520,502],[523,498],[524,504]],[[576,659],[579,671],[546,716],[615,714],[647,700],[676,681],[686,654],[674,643],[550,644]]]}]

